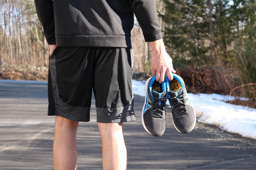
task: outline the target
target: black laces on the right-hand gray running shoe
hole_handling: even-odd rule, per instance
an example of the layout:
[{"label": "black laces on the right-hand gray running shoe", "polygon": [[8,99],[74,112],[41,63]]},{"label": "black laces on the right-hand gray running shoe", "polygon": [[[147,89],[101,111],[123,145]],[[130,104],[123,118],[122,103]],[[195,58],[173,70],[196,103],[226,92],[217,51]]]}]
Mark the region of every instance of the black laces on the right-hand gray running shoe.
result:
[{"label": "black laces on the right-hand gray running shoe", "polygon": [[188,99],[185,99],[184,96],[184,94],[176,95],[175,93],[167,96],[167,99],[171,99],[172,103],[170,104],[175,108],[175,110],[177,111],[176,115],[179,117],[186,116],[188,114],[185,105]]}]

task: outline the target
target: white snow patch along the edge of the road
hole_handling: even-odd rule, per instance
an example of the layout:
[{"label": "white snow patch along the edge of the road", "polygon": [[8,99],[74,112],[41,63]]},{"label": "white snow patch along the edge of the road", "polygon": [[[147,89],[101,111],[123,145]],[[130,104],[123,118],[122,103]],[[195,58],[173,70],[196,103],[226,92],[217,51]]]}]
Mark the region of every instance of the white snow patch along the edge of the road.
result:
[{"label": "white snow patch along the edge of the road", "polygon": [[[133,93],[145,96],[145,82],[132,80],[132,83]],[[191,93],[188,96],[195,107],[198,122],[216,125],[227,132],[256,139],[256,109],[224,102],[236,99],[234,96]]]}]

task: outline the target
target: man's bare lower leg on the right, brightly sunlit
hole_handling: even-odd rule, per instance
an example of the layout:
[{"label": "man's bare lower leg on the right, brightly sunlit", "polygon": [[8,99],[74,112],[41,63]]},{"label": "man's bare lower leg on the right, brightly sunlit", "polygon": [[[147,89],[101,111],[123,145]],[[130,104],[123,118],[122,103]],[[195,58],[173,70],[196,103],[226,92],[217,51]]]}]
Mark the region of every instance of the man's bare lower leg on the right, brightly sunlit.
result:
[{"label": "man's bare lower leg on the right, brightly sunlit", "polygon": [[102,139],[103,170],[126,170],[126,147],[122,123],[98,123]]}]

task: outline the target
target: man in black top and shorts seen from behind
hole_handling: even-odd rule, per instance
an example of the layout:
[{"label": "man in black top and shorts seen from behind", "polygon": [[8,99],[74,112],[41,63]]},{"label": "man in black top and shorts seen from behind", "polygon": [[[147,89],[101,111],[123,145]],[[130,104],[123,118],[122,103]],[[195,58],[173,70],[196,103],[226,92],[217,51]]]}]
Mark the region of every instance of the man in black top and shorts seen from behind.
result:
[{"label": "man in black top and shorts seen from behind", "polygon": [[[104,170],[126,169],[122,122],[135,121],[131,30],[134,14],[152,49],[152,73],[172,79],[154,0],[35,0],[50,45],[48,115],[55,117],[55,170],[76,169],[76,130],[90,120],[92,89]],[[86,135],[86,132],[84,132]]]}]

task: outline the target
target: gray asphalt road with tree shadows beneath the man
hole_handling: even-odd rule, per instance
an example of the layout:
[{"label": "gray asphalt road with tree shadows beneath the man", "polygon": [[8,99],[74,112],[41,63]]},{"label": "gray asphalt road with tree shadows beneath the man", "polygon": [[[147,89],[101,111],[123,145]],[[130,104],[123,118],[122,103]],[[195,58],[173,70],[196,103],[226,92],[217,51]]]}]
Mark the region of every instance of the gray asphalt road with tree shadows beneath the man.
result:
[{"label": "gray asphalt road with tree shadows beneath the man", "polygon": [[[149,135],[141,124],[144,97],[134,96],[137,121],[124,123],[128,170],[256,170],[256,140],[197,123],[188,134],[172,125]],[[0,80],[0,170],[53,170],[54,116],[47,116],[47,84]],[[100,170],[95,100],[91,121],[77,132],[77,170]]]}]

